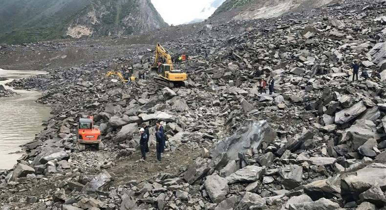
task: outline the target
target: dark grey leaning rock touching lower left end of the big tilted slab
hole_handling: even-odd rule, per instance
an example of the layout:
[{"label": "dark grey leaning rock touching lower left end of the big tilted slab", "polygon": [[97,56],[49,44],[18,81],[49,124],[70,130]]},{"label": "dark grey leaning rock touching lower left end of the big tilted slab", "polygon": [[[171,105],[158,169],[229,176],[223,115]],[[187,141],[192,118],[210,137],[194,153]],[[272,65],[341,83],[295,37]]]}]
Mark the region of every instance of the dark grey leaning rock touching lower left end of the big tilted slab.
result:
[{"label": "dark grey leaning rock touching lower left end of the big tilted slab", "polygon": [[189,184],[193,184],[195,181],[205,176],[209,169],[207,160],[199,157],[184,173],[184,180],[189,182]]}]

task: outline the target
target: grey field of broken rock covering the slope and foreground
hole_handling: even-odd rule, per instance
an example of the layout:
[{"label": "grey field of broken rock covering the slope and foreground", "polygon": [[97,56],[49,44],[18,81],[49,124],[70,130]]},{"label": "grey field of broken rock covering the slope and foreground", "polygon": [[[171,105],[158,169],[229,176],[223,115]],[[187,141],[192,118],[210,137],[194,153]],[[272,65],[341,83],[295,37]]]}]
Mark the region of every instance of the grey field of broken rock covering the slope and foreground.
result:
[{"label": "grey field of broken rock covering the slope and foreground", "polygon": [[[147,66],[147,45],[13,81],[42,90],[38,101],[53,108],[17,166],[0,171],[2,210],[385,209],[385,11],[382,0],[339,1],[166,42],[192,58],[176,66],[189,73],[187,87],[103,79],[128,62],[141,69],[138,58]],[[354,60],[381,78],[351,82]],[[271,95],[259,94],[258,66],[275,81]],[[77,119],[87,115],[103,150],[76,147]],[[156,120],[167,136],[161,163]]]}]

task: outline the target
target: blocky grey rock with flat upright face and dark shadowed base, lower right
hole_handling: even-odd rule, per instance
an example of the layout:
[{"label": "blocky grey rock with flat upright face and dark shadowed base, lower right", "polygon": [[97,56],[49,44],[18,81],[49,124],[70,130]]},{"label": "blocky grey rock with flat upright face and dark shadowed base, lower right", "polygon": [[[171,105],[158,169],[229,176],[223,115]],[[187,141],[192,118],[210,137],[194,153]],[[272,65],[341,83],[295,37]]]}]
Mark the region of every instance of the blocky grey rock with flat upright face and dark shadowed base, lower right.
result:
[{"label": "blocky grey rock with flat upright face and dark shadowed base, lower right", "polygon": [[279,174],[283,179],[282,185],[286,189],[294,189],[300,186],[303,168],[298,165],[287,165],[279,170]]}]

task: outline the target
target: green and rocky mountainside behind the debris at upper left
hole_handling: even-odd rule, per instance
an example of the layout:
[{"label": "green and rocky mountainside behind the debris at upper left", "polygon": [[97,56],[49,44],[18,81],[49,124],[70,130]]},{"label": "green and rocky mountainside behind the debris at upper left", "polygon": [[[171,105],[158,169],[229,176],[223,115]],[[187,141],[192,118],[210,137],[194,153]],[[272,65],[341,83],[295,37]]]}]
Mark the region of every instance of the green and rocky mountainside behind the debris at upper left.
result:
[{"label": "green and rocky mountainside behind the debris at upper left", "polygon": [[168,26],[150,0],[0,0],[0,43],[139,34]]}]

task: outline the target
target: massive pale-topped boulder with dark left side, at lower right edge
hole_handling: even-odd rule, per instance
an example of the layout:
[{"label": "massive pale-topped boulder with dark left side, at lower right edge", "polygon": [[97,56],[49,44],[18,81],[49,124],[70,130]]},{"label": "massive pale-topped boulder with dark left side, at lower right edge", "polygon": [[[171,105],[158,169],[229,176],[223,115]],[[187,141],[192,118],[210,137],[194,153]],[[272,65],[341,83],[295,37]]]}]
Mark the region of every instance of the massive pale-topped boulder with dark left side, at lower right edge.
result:
[{"label": "massive pale-topped boulder with dark left side, at lower right edge", "polygon": [[347,201],[359,200],[359,195],[372,186],[386,190],[386,165],[373,163],[341,179],[341,195]]}]

